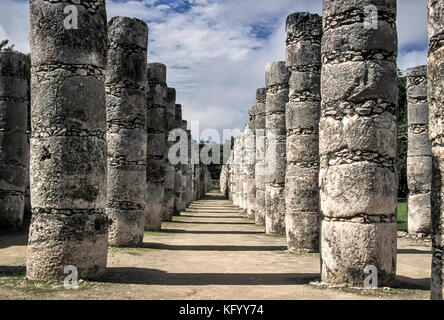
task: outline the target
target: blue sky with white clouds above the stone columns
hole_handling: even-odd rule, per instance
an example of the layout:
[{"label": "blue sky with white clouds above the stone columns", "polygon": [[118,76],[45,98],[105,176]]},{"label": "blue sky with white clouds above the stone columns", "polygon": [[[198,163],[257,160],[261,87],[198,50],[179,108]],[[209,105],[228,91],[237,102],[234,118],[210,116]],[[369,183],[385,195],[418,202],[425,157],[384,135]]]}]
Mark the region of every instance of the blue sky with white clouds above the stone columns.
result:
[{"label": "blue sky with white clouds above the stone columns", "polygon": [[[243,129],[265,65],[285,58],[285,19],[321,14],[322,0],[107,0],[108,19],[147,22],[149,62],[168,67],[186,120],[200,129]],[[28,1],[0,1],[0,39],[29,52]],[[398,0],[398,66],[427,63],[427,0]]]}]

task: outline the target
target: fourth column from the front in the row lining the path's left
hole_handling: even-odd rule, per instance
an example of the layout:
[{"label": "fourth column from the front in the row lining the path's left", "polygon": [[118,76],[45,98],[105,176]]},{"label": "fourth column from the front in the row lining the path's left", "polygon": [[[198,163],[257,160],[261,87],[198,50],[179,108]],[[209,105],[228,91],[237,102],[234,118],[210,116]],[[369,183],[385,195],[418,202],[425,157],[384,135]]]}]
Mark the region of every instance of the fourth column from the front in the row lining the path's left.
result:
[{"label": "fourth column from the front in the row lining the path's left", "polygon": [[166,99],[166,148],[165,148],[165,207],[162,213],[163,221],[172,221],[174,215],[174,166],[168,159],[168,152],[173,143],[168,140],[168,135],[175,128],[176,122],[176,89],[168,88]]}]

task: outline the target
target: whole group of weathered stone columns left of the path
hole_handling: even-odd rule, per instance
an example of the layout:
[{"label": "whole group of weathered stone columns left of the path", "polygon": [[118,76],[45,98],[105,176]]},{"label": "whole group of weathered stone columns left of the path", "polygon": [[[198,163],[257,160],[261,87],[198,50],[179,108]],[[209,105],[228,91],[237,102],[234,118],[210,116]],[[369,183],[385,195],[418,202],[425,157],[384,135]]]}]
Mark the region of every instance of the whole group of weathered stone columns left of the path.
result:
[{"label": "whole group of weathered stone columns left of the path", "polygon": [[[186,130],[166,67],[147,64],[147,25],[126,17],[107,23],[99,0],[76,4],[81,24],[67,28],[65,6],[30,3],[30,156],[25,57],[0,53],[0,228],[21,226],[29,162],[27,277],[37,280],[63,279],[68,266],[97,278],[108,245],[140,246],[144,230],[171,220],[168,133]],[[181,165],[179,210],[210,185],[206,166]]]}]

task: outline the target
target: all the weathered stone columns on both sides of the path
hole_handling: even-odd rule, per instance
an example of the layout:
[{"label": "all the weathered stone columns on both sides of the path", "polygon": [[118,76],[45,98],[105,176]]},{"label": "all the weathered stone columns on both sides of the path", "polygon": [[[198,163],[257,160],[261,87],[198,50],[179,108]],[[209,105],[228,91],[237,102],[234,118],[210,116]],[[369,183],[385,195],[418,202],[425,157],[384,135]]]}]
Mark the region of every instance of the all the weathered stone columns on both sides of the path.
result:
[{"label": "all the weathered stone columns on both sides of the path", "polygon": [[[213,183],[191,162],[197,142],[166,66],[147,64],[146,24],[107,23],[104,0],[82,1],[72,32],[65,5],[30,2],[31,75],[24,55],[0,53],[0,228],[21,227],[31,199],[32,280],[61,280],[70,265],[97,278],[108,245],[141,246],[144,230],[161,230]],[[363,14],[370,5],[376,28]],[[431,298],[442,299],[444,4],[428,8],[428,65],[407,71],[408,215],[410,233],[431,233]],[[266,66],[221,172],[222,193],[267,234],[320,252],[331,285],[362,286],[368,266],[380,285],[396,274],[396,9],[396,0],[324,0],[322,18],[291,14],[286,61]],[[173,165],[174,129],[188,161]]]}]

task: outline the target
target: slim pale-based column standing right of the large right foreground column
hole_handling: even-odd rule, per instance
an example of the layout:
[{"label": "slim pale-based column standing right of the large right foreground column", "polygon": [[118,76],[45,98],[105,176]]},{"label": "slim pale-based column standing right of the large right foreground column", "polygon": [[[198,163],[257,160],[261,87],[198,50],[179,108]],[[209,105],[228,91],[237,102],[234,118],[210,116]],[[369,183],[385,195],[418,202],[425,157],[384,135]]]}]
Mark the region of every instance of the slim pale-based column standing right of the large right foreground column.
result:
[{"label": "slim pale-based column standing right of the large right foreground column", "polygon": [[407,151],[408,231],[430,234],[432,217],[432,146],[429,140],[427,66],[407,69],[409,143]]}]

